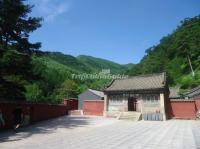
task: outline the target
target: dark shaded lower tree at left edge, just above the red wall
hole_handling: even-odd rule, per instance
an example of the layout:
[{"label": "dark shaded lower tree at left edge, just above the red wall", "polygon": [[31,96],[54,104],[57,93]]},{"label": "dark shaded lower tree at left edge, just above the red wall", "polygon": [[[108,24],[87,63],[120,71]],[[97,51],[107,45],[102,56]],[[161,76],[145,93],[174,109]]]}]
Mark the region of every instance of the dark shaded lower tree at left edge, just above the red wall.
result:
[{"label": "dark shaded lower tree at left edge, just above the red wall", "polygon": [[9,48],[0,58],[1,88],[0,97],[10,100],[24,100],[24,85],[32,76],[30,57]]}]

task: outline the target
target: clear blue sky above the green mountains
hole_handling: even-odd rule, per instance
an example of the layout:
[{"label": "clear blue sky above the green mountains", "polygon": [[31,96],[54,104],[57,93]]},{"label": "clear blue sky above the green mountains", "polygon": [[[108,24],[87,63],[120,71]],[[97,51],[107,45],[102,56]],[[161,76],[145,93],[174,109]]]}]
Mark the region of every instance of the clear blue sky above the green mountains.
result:
[{"label": "clear blue sky above the green mountains", "polygon": [[199,0],[30,0],[44,18],[31,41],[41,50],[138,63],[186,17],[200,14]]}]

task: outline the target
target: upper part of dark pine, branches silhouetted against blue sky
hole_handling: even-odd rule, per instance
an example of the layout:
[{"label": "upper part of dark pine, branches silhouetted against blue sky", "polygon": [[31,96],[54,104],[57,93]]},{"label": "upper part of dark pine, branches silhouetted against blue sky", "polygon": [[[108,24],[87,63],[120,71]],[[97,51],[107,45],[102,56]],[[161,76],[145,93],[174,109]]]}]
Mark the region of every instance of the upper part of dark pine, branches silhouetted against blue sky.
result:
[{"label": "upper part of dark pine, branches silhouetted against blue sky", "polygon": [[29,17],[33,6],[24,0],[0,1],[0,44],[14,46],[18,51],[30,53],[40,43],[30,43],[29,34],[41,26],[41,18]]}]

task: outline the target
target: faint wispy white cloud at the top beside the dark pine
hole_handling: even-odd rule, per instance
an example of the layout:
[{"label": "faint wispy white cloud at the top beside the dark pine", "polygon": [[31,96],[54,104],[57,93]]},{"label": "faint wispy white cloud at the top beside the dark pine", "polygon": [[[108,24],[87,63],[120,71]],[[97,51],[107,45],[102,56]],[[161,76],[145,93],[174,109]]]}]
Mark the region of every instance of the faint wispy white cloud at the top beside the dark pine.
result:
[{"label": "faint wispy white cloud at the top beside the dark pine", "polygon": [[52,22],[58,16],[69,11],[67,0],[32,0],[37,13],[44,18],[44,21]]}]

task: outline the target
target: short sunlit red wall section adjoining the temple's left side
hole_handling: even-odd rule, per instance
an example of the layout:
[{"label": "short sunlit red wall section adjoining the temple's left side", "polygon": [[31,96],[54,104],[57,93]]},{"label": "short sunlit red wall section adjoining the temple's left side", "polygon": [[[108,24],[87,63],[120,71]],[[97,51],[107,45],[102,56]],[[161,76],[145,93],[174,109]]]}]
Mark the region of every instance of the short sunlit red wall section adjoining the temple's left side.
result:
[{"label": "short sunlit red wall section adjoining the temple's left side", "polygon": [[103,100],[85,100],[83,103],[84,115],[103,116],[104,101]]}]

